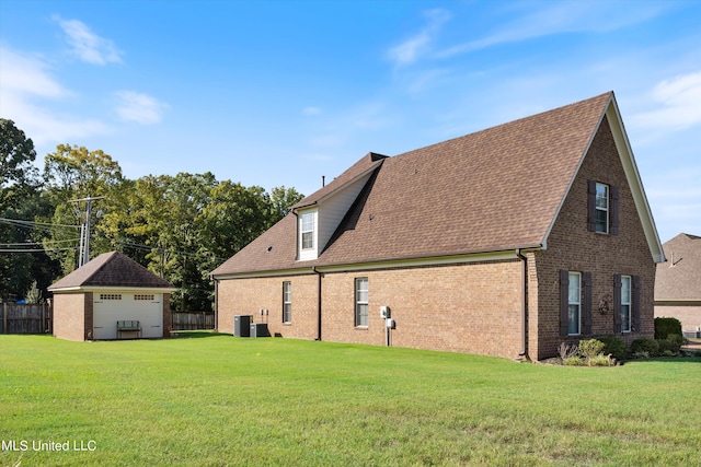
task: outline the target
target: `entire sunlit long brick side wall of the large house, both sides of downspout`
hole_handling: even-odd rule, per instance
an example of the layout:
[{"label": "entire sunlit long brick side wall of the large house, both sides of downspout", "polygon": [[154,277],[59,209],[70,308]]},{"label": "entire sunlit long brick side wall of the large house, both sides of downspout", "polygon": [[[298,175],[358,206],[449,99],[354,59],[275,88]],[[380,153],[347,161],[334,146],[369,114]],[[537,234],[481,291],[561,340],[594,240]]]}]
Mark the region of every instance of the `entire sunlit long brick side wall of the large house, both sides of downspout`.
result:
[{"label": "entire sunlit long brick side wall of the large house, both sides of downspout", "polygon": [[[367,277],[369,316],[355,326],[355,279]],[[283,281],[292,283],[292,323],[281,323]],[[234,315],[253,315],[271,334],[315,339],[318,276],[223,280],[218,285],[218,330],[233,332]],[[380,306],[391,308],[398,347],[517,358],[520,335],[518,260],[324,273],[322,340],[384,346]],[[261,316],[260,310],[268,315]]]}]

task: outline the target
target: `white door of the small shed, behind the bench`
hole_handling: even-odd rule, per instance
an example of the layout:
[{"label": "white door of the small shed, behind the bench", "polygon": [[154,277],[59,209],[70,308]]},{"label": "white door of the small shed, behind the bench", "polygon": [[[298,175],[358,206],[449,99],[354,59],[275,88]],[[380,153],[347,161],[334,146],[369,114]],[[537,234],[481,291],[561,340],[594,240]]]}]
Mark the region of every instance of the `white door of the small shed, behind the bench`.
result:
[{"label": "white door of the small shed, behind the bench", "polygon": [[[141,337],[163,337],[162,293],[93,293],[93,339],[116,339],[117,322],[138,320]],[[137,337],[135,332],[124,332],[124,338]]]}]

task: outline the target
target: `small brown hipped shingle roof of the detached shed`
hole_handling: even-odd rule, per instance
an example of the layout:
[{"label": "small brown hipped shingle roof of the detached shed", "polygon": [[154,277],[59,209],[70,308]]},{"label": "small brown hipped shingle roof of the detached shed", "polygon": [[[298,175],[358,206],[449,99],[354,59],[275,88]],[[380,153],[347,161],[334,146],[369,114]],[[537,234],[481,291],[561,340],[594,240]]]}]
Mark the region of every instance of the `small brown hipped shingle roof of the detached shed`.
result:
[{"label": "small brown hipped shingle roof of the detached shed", "polygon": [[156,276],[119,252],[104,253],[97,256],[65,278],[54,282],[48,290],[60,291],[102,287],[174,290],[173,285],[166,280]]}]

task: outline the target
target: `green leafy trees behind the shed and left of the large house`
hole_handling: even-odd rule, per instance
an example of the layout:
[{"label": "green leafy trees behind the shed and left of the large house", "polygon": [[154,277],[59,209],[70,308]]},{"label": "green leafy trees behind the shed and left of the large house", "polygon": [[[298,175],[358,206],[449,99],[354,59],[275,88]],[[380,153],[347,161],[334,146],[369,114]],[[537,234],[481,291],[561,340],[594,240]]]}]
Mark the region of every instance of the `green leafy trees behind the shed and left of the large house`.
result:
[{"label": "green leafy trees behind the shed and left of the large house", "polygon": [[35,165],[34,143],[0,119],[0,299],[22,299],[78,268],[83,201],[90,257],[119,250],[168,280],[171,307],[211,311],[209,272],[287,214],[295,188],[243,186],[214,174],[124,177],[102,150],[59,144]]}]

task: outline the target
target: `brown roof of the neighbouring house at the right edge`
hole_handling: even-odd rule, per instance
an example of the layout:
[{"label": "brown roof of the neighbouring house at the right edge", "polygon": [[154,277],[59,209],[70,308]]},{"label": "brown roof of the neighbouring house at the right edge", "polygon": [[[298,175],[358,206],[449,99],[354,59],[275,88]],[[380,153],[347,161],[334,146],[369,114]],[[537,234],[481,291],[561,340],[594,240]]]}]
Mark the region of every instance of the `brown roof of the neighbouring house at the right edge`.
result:
[{"label": "brown roof of the neighbouring house at the right edge", "polygon": [[657,265],[655,302],[701,302],[701,237],[681,233],[663,248],[667,262]]}]

